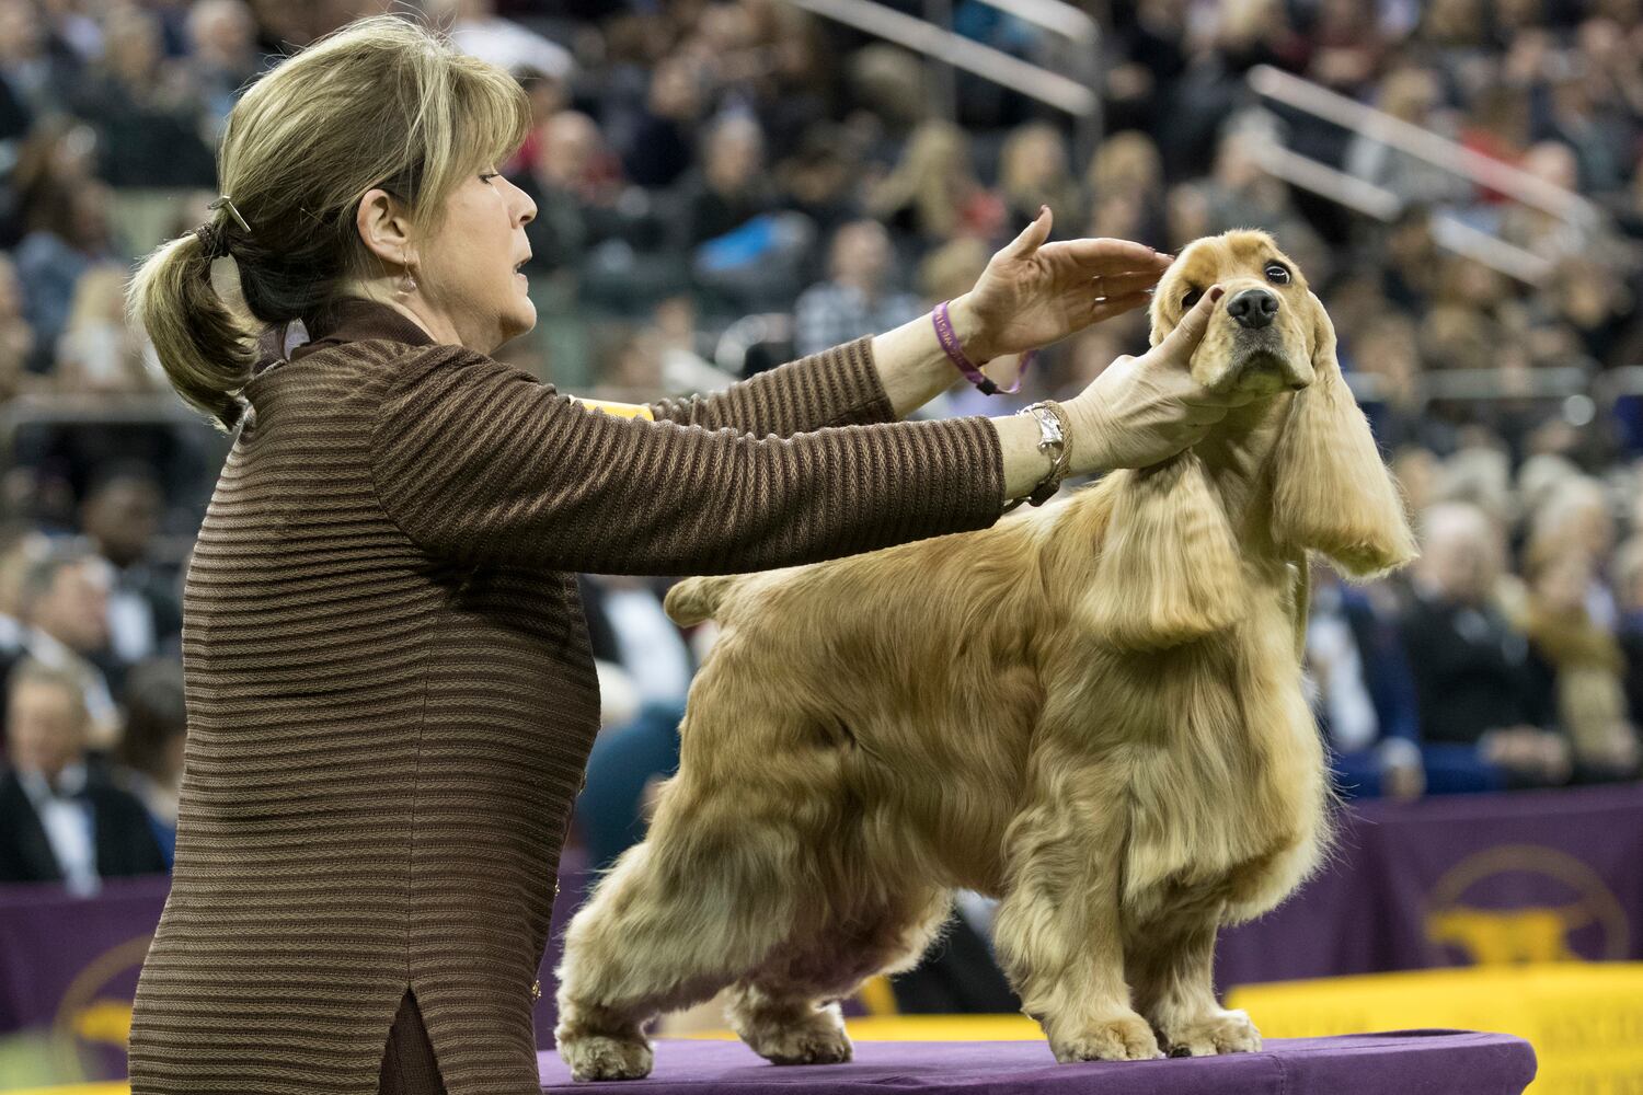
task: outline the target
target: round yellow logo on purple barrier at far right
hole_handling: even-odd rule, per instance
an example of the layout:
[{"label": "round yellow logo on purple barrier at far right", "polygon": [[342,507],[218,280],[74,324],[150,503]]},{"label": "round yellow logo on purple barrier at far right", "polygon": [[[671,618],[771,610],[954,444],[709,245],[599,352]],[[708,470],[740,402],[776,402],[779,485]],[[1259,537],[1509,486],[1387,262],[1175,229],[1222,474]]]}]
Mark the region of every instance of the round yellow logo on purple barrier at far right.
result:
[{"label": "round yellow logo on purple barrier at far right", "polygon": [[[1507,885],[1510,875],[1518,885]],[[1507,888],[1516,906],[1493,906],[1503,901],[1490,900],[1492,888]],[[1426,937],[1477,965],[1627,957],[1627,914],[1604,880],[1572,855],[1536,844],[1469,855],[1438,880],[1426,908]]]}]

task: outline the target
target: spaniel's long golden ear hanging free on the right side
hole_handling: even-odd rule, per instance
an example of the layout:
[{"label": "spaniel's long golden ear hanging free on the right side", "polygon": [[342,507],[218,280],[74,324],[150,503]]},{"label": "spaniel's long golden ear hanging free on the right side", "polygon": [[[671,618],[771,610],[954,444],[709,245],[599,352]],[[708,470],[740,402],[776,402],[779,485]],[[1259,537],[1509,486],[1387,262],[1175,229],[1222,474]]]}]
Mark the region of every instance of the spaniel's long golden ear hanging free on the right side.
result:
[{"label": "spaniel's long golden ear hanging free on the right side", "polygon": [[1272,538],[1367,578],[1415,558],[1415,538],[1369,420],[1341,376],[1334,325],[1316,296],[1308,300],[1316,376],[1295,396],[1273,451]]}]

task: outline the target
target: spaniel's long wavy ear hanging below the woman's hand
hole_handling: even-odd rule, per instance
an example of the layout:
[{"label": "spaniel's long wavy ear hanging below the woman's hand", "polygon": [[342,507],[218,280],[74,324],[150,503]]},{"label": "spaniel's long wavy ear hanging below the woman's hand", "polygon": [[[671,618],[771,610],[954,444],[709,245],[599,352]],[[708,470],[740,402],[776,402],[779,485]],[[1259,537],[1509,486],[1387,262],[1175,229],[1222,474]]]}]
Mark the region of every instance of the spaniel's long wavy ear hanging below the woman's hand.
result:
[{"label": "spaniel's long wavy ear hanging below the woman's hand", "polygon": [[1079,621],[1121,650],[1173,647],[1232,624],[1244,573],[1221,499],[1191,451],[1116,471]]}]

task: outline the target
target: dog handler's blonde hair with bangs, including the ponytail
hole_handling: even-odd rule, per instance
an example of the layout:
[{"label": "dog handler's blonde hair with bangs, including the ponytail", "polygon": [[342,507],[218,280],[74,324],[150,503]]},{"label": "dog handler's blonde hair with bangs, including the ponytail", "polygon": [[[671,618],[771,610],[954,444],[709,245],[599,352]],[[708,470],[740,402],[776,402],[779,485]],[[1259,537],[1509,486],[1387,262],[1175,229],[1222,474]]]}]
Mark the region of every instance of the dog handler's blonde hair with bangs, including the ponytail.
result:
[{"label": "dog handler's blonde hair with bangs, including the ponytail", "polygon": [[210,223],[250,317],[212,287],[212,259],[189,231],[131,277],[131,322],[148,330],[184,402],[233,432],[263,325],[307,323],[352,282],[383,273],[355,227],[365,194],[393,194],[426,238],[467,176],[504,159],[529,128],[529,100],[503,69],[398,15],[357,20],[263,76],[223,128],[220,192],[250,231],[227,208]]}]

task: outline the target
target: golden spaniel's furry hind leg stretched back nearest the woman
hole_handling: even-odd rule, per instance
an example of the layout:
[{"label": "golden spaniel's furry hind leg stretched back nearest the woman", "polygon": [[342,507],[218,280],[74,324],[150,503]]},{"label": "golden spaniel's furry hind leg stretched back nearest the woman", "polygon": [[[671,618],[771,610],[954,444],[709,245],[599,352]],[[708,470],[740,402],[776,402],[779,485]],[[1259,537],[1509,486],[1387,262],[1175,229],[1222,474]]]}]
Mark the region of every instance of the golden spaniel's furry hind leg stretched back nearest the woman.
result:
[{"label": "golden spaniel's furry hind leg stretched back nearest the woman", "polygon": [[575,1079],[649,1075],[644,1026],[711,998],[789,934],[792,887],[775,862],[789,837],[723,836],[652,831],[570,921],[554,1033]]}]

